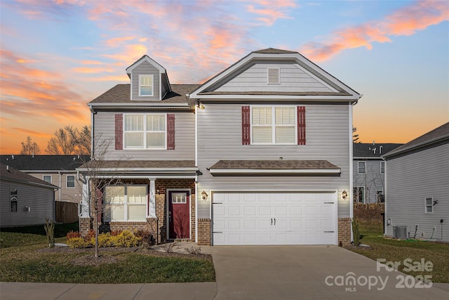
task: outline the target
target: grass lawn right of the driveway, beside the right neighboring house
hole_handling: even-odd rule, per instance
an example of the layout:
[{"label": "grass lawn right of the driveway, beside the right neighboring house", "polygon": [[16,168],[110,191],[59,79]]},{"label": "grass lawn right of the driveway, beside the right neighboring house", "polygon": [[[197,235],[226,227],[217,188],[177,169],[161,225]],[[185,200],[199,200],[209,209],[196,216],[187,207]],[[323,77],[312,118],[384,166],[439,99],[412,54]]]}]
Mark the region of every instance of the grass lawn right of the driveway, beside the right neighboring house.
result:
[{"label": "grass lawn right of the driveway, beside the right neighboring house", "polygon": [[[424,240],[395,240],[383,236],[382,219],[360,220],[361,243],[368,244],[370,248],[351,248],[354,251],[370,259],[386,259],[387,261],[399,261],[398,267],[403,273],[417,275],[431,275],[432,282],[449,283],[449,243],[428,242]],[[411,259],[414,262],[431,261],[434,264],[431,271],[406,271],[404,260]]]}]

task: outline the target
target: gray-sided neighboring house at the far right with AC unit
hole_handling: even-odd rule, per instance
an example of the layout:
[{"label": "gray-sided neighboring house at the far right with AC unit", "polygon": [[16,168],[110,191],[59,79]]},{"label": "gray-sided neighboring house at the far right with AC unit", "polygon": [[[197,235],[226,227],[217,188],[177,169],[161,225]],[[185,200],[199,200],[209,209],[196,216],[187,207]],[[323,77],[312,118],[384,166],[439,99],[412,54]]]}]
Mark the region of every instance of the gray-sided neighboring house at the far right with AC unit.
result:
[{"label": "gray-sided neighboring house at the far right with AC unit", "polygon": [[383,157],[385,235],[449,242],[449,123]]}]

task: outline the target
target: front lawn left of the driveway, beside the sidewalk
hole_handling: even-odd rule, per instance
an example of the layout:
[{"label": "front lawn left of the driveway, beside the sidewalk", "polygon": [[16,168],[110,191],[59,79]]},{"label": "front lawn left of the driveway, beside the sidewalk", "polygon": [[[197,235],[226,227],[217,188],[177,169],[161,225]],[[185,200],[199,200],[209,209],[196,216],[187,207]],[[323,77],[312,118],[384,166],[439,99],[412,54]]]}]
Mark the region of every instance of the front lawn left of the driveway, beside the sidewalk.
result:
[{"label": "front lawn left of the driveway, beside the sidewalk", "polygon": [[[39,228],[41,227],[41,228]],[[8,230],[8,231],[6,231]],[[73,226],[55,226],[56,242],[65,242]],[[43,232],[43,233],[42,233]],[[92,256],[93,249],[48,252],[43,226],[2,228],[0,233],[1,282],[156,283],[215,281],[211,259],[153,256],[151,254],[100,249],[100,256],[113,256],[112,263],[79,266],[77,259]],[[95,259],[95,258],[91,258]]]}]

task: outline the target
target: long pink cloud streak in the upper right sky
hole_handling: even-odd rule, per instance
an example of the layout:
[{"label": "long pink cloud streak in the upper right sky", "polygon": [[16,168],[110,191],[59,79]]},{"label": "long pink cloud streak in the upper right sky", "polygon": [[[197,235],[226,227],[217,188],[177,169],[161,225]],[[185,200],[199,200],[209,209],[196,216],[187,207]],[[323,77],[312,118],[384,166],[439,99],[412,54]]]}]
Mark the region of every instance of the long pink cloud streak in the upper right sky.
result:
[{"label": "long pink cloud streak in the upper right sky", "polygon": [[310,42],[300,50],[312,60],[326,60],[349,48],[373,48],[373,43],[391,41],[391,36],[410,35],[418,30],[449,20],[449,3],[417,1],[388,15],[384,20],[367,22],[339,30],[330,41]]}]

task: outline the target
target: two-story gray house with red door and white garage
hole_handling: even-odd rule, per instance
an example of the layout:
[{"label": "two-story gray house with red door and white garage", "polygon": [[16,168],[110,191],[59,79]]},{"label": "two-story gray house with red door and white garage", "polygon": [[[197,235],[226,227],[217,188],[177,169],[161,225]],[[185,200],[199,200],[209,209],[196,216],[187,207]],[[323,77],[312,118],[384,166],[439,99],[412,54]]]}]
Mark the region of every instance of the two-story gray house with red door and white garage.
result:
[{"label": "two-story gray house with red door and white garage", "polygon": [[[300,53],[273,48],[201,86],[170,84],[148,56],[126,72],[130,84],[88,103],[93,149],[110,143],[98,172],[120,179],[97,191],[108,208],[103,230],[215,245],[351,242],[360,94]],[[86,176],[93,164],[78,170]],[[94,204],[84,204],[85,233]]]}]

